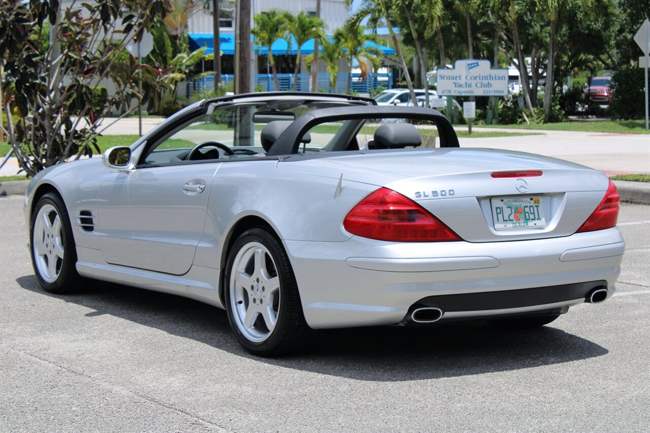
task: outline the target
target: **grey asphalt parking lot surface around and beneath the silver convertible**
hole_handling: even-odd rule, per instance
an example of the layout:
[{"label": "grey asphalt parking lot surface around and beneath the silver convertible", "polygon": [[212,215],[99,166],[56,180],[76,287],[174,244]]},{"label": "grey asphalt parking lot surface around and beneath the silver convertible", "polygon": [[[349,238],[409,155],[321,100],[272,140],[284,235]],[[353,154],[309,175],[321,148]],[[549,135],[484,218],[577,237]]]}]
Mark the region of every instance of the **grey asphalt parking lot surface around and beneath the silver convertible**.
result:
[{"label": "grey asphalt parking lot surface around and beneath the silver convertible", "polygon": [[100,282],[45,293],[22,203],[0,197],[0,430],[650,429],[650,206],[621,205],[616,295],[550,326],[332,330],[269,360],[195,301]]}]

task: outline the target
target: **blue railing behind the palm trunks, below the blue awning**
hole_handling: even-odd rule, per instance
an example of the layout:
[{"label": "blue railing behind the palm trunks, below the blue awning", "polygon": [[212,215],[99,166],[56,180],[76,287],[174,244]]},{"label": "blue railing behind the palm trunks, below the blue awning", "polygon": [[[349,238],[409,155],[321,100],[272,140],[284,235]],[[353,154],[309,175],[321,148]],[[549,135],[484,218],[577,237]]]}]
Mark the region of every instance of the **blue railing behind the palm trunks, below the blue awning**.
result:
[{"label": "blue railing behind the palm trunks, below the blue awning", "polygon": [[[255,88],[261,88],[263,92],[273,92],[275,90],[293,90],[293,77],[292,73],[278,74],[279,89],[276,89],[273,80],[273,74],[257,74],[255,75]],[[298,74],[298,92],[309,92],[309,77],[308,73]],[[221,82],[223,86],[228,88],[234,82],[234,75],[222,75]],[[356,93],[372,93],[380,86],[385,89],[391,88],[393,76],[391,73],[372,74],[369,73],[365,79],[361,79],[360,74],[340,73],[337,75],[336,86],[334,89],[330,88],[330,75],[326,73],[318,74],[318,90],[322,92],[345,93],[346,80],[351,80],[350,89]],[[192,80],[187,83],[187,97],[192,97],[193,93],[203,92],[205,90],[213,90],[214,77],[209,76],[201,79]]]}]

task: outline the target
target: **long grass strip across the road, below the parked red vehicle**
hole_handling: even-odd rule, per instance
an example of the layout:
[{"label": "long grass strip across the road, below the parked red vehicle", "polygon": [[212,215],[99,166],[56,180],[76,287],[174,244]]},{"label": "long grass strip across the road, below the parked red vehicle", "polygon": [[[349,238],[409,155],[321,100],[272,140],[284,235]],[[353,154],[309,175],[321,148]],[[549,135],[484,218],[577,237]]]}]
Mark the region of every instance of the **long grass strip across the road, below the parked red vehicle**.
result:
[{"label": "long grass strip across the road, below the parked red vehicle", "polygon": [[[463,125],[465,126],[465,125]],[[577,130],[584,132],[610,132],[617,134],[649,134],[645,130],[645,120],[595,120],[566,121],[560,123],[523,124],[523,125],[474,125],[476,128],[506,129],[543,129],[543,130]]]}]

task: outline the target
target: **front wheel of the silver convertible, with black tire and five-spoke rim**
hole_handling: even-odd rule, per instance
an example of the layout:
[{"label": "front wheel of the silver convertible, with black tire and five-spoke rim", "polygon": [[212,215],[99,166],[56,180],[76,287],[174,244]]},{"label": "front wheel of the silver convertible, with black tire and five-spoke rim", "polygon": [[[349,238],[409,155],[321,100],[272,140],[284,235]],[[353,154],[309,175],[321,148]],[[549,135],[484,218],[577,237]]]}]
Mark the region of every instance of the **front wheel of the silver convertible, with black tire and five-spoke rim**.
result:
[{"label": "front wheel of the silver convertible, with black tire and five-spoke rim", "polygon": [[[47,221],[52,227],[48,227]],[[29,245],[34,274],[45,291],[69,293],[77,290],[81,281],[75,267],[77,249],[70,217],[59,195],[45,193],[36,202],[31,215]]]}]

